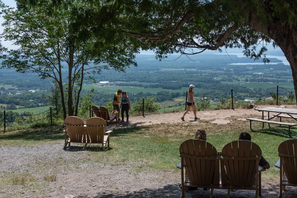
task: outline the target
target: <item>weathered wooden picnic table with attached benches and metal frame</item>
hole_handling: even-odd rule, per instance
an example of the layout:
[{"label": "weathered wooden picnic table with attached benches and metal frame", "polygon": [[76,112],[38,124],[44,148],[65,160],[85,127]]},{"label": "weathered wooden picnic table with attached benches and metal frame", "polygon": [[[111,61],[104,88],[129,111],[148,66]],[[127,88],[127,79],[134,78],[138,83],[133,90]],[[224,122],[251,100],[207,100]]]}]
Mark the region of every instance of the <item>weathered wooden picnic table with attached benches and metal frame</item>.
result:
[{"label": "weathered wooden picnic table with attached benches and metal frame", "polygon": [[[255,108],[255,110],[257,111],[262,111],[262,119],[257,119],[257,118],[247,118],[247,120],[250,121],[250,129],[252,131],[255,131],[252,129],[252,121],[255,122],[262,122],[262,128],[261,129],[257,129],[257,130],[262,130],[264,128],[264,123],[268,123],[268,127],[269,128],[274,128],[271,127],[270,124],[277,124],[279,127],[281,125],[287,125],[289,127],[289,136],[291,136],[291,132],[290,132],[290,127],[296,126],[297,123],[289,123],[289,122],[282,122],[282,117],[284,118],[293,118],[297,121],[297,110],[296,109],[288,109],[288,108],[275,108],[275,107],[264,107],[264,108]],[[264,112],[268,113],[268,119],[264,119]],[[270,117],[270,113],[275,113]],[[277,121],[272,121],[271,119],[278,117],[280,118],[280,122]]]}]

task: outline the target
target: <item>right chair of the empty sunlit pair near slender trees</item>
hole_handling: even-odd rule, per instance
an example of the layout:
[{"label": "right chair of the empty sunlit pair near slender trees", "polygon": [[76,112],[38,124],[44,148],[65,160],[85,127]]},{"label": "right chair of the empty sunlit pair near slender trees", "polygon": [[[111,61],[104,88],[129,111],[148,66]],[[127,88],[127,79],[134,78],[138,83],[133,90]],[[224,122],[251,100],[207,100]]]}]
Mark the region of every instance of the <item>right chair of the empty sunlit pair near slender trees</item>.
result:
[{"label": "right chair of the empty sunlit pair near slender trees", "polygon": [[[109,148],[109,138],[110,138],[110,132],[105,131],[106,130],[106,122],[104,119],[99,117],[92,117],[89,118],[86,122],[86,130],[87,130],[87,143],[98,143],[102,144],[102,150],[105,150],[106,142],[107,146]],[[105,135],[107,134],[107,135]],[[86,149],[86,145],[84,149]]]}]

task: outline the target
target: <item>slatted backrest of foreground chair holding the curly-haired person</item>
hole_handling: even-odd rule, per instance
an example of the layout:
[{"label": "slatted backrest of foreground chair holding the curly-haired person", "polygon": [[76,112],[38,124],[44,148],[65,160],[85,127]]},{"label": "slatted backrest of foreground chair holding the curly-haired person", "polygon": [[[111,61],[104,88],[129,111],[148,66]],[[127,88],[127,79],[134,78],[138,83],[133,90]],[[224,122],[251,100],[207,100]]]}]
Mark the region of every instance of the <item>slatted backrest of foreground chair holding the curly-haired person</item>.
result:
[{"label": "slatted backrest of foreground chair holding the curly-haired person", "polygon": [[190,139],[181,143],[179,153],[181,157],[185,156],[184,167],[190,183],[199,186],[219,183],[219,160],[199,158],[217,156],[214,146],[205,140]]}]

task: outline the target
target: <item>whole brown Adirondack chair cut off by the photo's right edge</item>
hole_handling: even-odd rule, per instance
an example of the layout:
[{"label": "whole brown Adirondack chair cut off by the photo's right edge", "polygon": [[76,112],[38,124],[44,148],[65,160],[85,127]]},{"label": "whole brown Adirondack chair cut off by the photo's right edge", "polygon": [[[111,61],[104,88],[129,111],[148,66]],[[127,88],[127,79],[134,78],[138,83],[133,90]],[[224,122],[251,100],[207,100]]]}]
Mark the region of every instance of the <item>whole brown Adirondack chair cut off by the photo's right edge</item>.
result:
[{"label": "whole brown Adirondack chair cut off by the photo's right edge", "polygon": [[283,141],[278,148],[280,157],[280,189],[278,197],[286,186],[297,186],[297,139]]}]

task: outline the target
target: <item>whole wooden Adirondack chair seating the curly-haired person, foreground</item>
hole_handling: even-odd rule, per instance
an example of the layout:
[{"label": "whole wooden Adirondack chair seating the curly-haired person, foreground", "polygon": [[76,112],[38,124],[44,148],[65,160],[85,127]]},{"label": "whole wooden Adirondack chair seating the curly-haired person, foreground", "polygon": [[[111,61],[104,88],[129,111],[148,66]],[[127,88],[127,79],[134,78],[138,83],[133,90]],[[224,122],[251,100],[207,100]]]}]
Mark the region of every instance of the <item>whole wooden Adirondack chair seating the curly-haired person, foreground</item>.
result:
[{"label": "whole wooden Adirondack chair seating the curly-haired person, foreground", "polygon": [[[219,188],[219,157],[217,149],[205,140],[190,139],[179,147],[181,157],[181,197],[189,187]],[[186,178],[184,180],[184,168]]]}]

